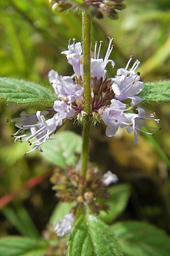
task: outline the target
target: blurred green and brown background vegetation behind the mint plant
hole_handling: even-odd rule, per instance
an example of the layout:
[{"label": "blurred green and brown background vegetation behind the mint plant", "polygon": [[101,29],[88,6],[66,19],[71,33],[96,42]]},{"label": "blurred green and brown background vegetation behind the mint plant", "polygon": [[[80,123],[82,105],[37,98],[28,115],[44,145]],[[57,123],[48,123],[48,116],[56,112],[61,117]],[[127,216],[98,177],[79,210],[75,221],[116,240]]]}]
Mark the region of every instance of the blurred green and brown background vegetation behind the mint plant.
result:
[{"label": "blurred green and brown background vegetation behind the mint plant", "polygon": [[[113,37],[115,48],[111,58],[116,66],[114,69],[108,67],[109,76],[113,77],[117,68],[125,67],[129,56],[133,55],[134,60],[141,61],[139,71],[144,82],[169,79],[169,0],[125,2],[127,7],[118,20],[94,19],[93,43],[104,41],[101,57],[107,50],[108,36]],[[67,48],[70,38],[81,40],[79,13],[54,14],[47,0],[1,1],[0,75],[37,81],[50,87],[50,69],[61,75],[73,74],[66,57],[60,54]],[[140,134],[138,145],[133,146],[133,135],[124,130],[107,138],[104,125],[96,127],[92,130],[91,161],[97,162],[103,172],[115,172],[120,183],[131,184],[131,197],[119,220],[145,220],[169,233],[170,105],[145,102],[142,106],[148,113],[156,112],[162,130],[156,131],[154,137]],[[0,196],[9,193],[14,196],[8,208],[3,208],[0,213],[0,236],[19,233],[10,217],[16,209],[24,209],[42,232],[57,203],[49,181],[53,164],[37,151],[23,156],[27,145],[13,142],[10,134],[14,133],[15,127],[6,123],[7,118],[18,117],[22,110],[32,113],[41,109],[43,106],[0,102]],[[80,127],[71,123],[66,128],[81,133]],[[27,180],[37,175],[41,175],[42,182],[37,181],[37,185],[28,188]],[[4,197],[0,203],[4,203]]]}]

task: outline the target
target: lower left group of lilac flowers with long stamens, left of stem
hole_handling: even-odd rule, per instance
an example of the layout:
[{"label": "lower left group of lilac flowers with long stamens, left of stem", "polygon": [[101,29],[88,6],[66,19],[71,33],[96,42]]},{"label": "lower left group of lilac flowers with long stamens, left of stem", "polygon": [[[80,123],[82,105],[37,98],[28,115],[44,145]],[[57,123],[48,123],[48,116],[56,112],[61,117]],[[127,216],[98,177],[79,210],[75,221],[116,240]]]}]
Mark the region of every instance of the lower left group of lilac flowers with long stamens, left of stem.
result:
[{"label": "lower left group of lilac flowers with long stamens, left of stem", "polygon": [[[57,72],[49,72],[49,81],[53,86],[58,100],[54,101],[53,107],[45,112],[37,111],[35,114],[22,112],[20,118],[14,118],[15,126],[19,128],[12,137],[15,141],[28,142],[33,146],[27,153],[41,150],[41,144],[51,139],[67,119],[74,118],[79,112],[79,103],[83,100],[83,87],[76,84],[69,76],[59,76]],[[26,153],[24,153],[26,154]]]}]

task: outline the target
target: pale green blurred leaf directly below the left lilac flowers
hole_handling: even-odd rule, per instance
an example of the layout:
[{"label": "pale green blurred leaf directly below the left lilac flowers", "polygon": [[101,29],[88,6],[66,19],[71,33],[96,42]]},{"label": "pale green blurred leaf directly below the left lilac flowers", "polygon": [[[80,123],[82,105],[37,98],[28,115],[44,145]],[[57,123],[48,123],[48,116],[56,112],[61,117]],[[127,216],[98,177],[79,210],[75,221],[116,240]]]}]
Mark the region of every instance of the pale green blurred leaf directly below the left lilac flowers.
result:
[{"label": "pale green blurred leaf directly below the left lilac flowers", "polygon": [[82,137],[72,131],[58,131],[52,138],[53,141],[42,144],[42,156],[62,168],[74,166],[77,162],[75,154],[82,150]]}]

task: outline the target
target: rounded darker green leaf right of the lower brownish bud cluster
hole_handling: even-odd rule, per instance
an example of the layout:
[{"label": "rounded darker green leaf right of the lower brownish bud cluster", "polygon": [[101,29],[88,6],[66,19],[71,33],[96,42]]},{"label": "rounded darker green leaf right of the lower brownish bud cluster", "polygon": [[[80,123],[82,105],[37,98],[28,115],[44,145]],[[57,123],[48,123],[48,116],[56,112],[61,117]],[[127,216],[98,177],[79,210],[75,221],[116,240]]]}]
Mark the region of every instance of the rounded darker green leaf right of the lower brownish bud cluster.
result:
[{"label": "rounded darker green leaf right of the lower brownish bud cluster", "polygon": [[111,224],[113,220],[122,213],[128,204],[130,197],[130,185],[113,185],[108,188],[108,191],[111,196],[109,199],[105,200],[104,203],[109,206],[109,210],[108,212],[104,212],[104,210],[102,210],[99,217],[107,224]]}]

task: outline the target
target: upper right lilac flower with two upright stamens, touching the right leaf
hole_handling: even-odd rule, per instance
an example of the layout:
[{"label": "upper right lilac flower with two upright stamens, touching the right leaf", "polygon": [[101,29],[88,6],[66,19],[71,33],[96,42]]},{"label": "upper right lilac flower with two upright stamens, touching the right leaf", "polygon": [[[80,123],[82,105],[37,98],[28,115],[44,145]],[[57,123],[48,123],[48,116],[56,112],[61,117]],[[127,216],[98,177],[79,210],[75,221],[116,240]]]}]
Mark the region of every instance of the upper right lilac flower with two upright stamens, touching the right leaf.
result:
[{"label": "upper right lilac flower with two upright stamens, touching the right leaf", "polygon": [[140,73],[135,72],[135,69],[139,65],[139,61],[136,60],[133,67],[128,71],[128,66],[132,57],[128,61],[126,68],[120,68],[117,71],[117,76],[112,79],[112,89],[114,92],[114,98],[116,100],[131,99],[131,106],[135,106],[142,101],[142,98],[135,96],[143,89],[143,82],[140,80]]}]

